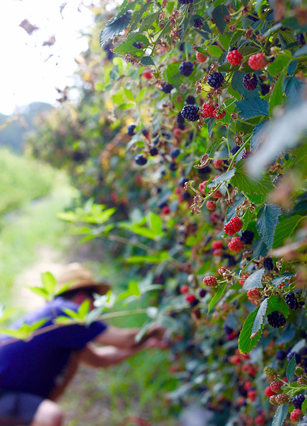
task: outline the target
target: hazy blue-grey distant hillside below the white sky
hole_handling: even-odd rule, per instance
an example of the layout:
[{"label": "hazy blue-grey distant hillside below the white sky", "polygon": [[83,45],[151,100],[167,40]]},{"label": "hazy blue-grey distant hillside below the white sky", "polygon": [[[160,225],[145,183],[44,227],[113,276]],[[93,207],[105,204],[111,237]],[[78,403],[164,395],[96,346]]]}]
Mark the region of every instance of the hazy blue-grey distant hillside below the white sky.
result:
[{"label": "hazy blue-grey distant hillside below the white sky", "polygon": [[[21,108],[23,119],[12,121],[7,127],[0,130],[0,146],[9,147],[12,151],[20,153],[24,149],[24,136],[29,130],[35,128],[33,118],[41,112],[49,111],[51,105],[45,102],[33,102]],[[8,118],[0,113],[0,125]]]}]

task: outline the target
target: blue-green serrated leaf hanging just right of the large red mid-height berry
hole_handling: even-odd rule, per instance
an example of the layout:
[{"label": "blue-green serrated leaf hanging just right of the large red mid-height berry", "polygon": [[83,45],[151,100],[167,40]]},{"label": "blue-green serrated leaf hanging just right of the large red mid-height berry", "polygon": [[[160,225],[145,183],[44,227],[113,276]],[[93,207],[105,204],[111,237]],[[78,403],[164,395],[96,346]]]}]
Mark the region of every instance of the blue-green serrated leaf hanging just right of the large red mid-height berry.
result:
[{"label": "blue-green serrated leaf hanging just right of the large red mid-height berry", "polygon": [[282,214],[278,204],[265,204],[257,214],[257,230],[269,249],[273,246],[274,233],[279,216]]}]

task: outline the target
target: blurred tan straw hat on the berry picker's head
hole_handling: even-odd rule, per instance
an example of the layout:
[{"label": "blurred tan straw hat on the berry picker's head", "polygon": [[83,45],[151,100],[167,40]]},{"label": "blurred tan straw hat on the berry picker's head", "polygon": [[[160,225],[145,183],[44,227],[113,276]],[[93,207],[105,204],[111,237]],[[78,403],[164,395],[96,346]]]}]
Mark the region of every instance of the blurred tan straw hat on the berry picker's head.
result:
[{"label": "blurred tan straw hat on the berry picker's head", "polygon": [[90,269],[77,262],[64,266],[57,276],[57,291],[65,284],[68,284],[65,291],[94,287],[96,293],[100,295],[105,294],[110,289],[108,284],[96,282]]}]

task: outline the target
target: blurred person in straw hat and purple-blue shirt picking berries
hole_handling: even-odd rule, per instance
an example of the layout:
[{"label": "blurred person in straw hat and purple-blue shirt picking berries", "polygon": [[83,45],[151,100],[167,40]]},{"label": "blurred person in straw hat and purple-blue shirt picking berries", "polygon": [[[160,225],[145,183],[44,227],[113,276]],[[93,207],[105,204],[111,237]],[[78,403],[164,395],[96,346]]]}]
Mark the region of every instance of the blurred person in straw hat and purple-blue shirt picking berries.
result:
[{"label": "blurred person in straw hat and purple-blue shirt picking berries", "polygon": [[[65,290],[45,306],[11,324],[44,321],[27,340],[0,336],[0,425],[61,426],[63,412],[56,403],[80,364],[106,368],[141,349],[165,348],[165,328],[153,326],[136,342],[138,328],[117,328],[102,321],[90,324],[61,323],[56,319],[78,312],[88,300],[94,308],[94,294],[109,290],[96,282],[91,271],[77,263],[67,265],[58,277]],[[101,346],[98,346],[101,345]]]}]

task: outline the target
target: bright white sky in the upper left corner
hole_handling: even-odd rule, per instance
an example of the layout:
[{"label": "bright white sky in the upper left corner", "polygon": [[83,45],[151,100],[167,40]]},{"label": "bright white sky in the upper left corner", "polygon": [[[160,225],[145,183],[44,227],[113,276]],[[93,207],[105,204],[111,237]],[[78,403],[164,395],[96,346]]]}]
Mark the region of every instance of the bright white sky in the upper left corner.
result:
[{"label": "bright white sky in the upper left corner", "polygon": [[[60,5],[67,2],[60,15]],[[5,0],[0,14],[1,67],[0,112],[11,114],[16,106],[42,101],[55,104],[58,93],[72,85],[77,67],[74,57],[87,49],[87,40],[78,30],[93,21],[86,7],[99,0]],[[28,19],[39,27],[32,35],[19,27]],[[43,42],[55,36],[55,44]],[[47,58],[53,54],[48,60]]]}]

